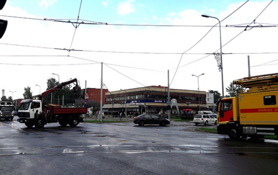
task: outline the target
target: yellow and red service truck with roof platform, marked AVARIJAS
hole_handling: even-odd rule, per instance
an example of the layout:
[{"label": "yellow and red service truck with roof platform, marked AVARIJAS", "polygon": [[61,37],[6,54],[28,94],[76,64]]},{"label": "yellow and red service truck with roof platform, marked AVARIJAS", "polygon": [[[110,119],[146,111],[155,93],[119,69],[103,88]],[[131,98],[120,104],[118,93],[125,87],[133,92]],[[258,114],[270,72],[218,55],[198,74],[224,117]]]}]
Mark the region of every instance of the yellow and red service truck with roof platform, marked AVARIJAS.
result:
[{"label": "yellow and red service truck with roof platform, marked AVARIJAS", "polygon": [[233,81],[246,87],[238,96],[217,102],[217,132],[232,139],[278,135],[278,73]]}]

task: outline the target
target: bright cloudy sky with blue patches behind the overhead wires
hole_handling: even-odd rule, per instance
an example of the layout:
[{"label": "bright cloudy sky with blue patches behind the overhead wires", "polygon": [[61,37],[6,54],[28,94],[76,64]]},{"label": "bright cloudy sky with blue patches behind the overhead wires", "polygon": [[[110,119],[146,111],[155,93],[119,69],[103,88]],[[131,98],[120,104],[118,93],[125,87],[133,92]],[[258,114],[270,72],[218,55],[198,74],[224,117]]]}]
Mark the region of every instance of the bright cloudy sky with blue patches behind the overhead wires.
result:
[{"label": "bright cloudy sky with blue patches behind the overhead wires", "polygon": [[[27,86],[36,95],[36,84],[43,92],[48,78],[58,80],[52,73],[60,81],[79,79],[81,88],[85,80],[87,87],[100,88],[103,62],[103,83],[110,91],[167,86],[169,70],[170,88],[197,90],[192,74],[204,73],[200,90],[221,93],[212,54],[220,52],[218,20],[201,14],[221,21],[226,88],[248,76],[248,55],[251,75],[277,72],[278,2],[270,2],[7,0],[0,10],[0,19],[8,20],[0,39],[0,88],[7,97],[16,91],[14,99],[23,98]],[[76,28],[66,21],[90,24]]]}]

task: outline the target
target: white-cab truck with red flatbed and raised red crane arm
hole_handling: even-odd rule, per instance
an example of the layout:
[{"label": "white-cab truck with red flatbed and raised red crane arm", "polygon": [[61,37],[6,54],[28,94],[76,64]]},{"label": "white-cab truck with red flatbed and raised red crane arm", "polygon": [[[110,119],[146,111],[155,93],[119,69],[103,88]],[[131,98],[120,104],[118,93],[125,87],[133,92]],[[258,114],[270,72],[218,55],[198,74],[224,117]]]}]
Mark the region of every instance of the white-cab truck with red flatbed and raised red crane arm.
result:
[{"label": "white-cab truck with red flatbed and raised red crane arm", "polygon": [[[27,127],[44,127],[47,123],[59,122],[60,125],[76,126],[82,120],[82,114],[87,113],[87,107],[63,107],[57,104],[44,104],[44,97],[63,86],[70,83],[75,83],[73,91],[80,91],[76,78],[66,82],[62,82],[55,87],[48,89],[39,95],[39,99],[24,99],[21,101],[21,105],[18,111],[18,121],[25,123]],[[35,117],[35,113],[38,110],[39,117]]]}]

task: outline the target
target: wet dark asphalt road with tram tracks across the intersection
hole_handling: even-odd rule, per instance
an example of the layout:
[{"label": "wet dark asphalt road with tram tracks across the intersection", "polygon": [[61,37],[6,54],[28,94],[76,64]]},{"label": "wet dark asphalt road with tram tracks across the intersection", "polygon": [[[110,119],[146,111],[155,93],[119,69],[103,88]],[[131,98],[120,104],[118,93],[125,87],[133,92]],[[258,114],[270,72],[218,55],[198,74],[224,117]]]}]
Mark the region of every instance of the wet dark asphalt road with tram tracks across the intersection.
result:
[{"label": "wet dark asphalt road with tram tracks across the intersection", "polygon": [[[16,118],[15,118],[16,119]],[[80,123],[27,128],[0,122],[1,174],[276,174],[278,141],[230,140],[168,126]],[[210,125],[208,127],[215,127]]]}]

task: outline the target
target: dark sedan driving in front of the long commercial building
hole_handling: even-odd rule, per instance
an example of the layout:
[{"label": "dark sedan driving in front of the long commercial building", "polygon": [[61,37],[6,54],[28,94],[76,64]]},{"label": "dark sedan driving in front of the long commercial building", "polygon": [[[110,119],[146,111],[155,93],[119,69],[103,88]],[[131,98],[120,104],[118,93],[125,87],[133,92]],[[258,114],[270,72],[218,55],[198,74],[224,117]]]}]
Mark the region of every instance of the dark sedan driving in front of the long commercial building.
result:
[{"label": "dark sedan driving in front of the long commercial building", "polygon": [[143,126],[144,124],[159,124],[161,126],[170,124],[170,120],[168,118],[149,113],[134,117],[133,122],[135,124],[139,124],[140,126]]}]

